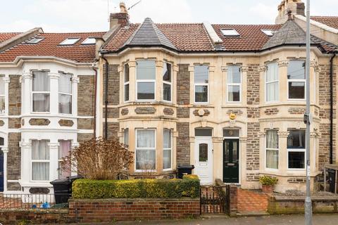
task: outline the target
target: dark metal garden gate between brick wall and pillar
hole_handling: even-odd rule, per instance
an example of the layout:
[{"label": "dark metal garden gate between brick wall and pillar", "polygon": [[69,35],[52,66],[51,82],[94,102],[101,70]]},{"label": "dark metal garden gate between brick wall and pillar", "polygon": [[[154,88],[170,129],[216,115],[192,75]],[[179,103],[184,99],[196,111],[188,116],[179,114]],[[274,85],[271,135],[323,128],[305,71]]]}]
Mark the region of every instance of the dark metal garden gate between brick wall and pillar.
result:
[{"label": "dark metal garden gate between brick wall and pillar", "polygon": [[201,214],[230,214],[230,185],[201,186]]}]

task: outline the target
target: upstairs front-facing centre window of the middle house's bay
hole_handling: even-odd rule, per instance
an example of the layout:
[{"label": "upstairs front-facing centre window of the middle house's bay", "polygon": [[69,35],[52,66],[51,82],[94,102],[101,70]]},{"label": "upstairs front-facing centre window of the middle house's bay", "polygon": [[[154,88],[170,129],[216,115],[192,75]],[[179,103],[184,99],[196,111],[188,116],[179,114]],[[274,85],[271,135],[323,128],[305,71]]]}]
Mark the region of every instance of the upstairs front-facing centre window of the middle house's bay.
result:
[{"label": "upstairs front-facing centre window of the middle house's bay", "polygon": [[137,61],[137,100],[154,101],[156,64],[151,60]]}]

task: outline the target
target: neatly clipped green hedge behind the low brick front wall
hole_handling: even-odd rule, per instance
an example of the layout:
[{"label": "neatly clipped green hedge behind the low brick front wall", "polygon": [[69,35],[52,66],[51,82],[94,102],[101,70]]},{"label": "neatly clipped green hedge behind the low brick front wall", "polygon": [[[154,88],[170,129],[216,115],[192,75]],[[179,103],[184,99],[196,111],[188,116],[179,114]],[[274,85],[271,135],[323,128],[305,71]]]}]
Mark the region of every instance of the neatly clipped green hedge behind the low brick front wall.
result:
[{"label": "neatly clipped green hedge behind the low brick front wall", "polygon": [[73,198],[197,198],[199,179],[89,180],[73,182]]}]

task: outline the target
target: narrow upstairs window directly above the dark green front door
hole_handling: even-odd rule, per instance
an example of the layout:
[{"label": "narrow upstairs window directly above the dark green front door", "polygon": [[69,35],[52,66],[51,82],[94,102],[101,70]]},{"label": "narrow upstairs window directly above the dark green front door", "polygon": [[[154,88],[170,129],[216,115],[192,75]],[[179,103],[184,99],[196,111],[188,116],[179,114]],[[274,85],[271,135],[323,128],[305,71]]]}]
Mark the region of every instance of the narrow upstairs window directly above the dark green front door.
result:
[{"label": "narrow upstairs window directly above the dark green front door", "polygon": [[230,65],[227,68],[227,102],[241,101],[241,67]]}]

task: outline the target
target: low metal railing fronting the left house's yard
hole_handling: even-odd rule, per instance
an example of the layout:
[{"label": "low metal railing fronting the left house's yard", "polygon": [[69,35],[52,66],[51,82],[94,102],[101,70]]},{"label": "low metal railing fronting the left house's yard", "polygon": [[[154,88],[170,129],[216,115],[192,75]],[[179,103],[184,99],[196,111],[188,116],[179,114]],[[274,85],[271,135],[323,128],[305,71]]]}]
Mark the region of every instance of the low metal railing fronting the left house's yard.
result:
[{"label": "low metal railing fronting the left house's yard", "polygon": [[0,209],[51,209],[68,207],[67,193],[56,194],[2,194]]}]

